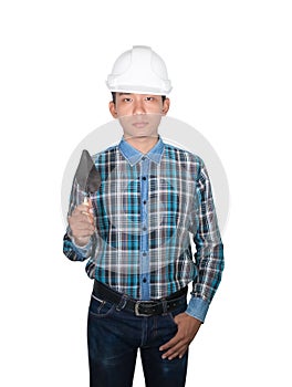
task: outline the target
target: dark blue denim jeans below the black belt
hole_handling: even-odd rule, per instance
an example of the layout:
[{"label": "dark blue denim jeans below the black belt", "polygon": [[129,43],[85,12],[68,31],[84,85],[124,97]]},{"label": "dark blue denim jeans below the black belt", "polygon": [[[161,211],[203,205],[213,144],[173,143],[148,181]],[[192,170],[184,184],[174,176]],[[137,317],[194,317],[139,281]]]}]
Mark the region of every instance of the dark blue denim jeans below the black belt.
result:
[{"label": "dark blue denim jeans below the black belt", "polygon": [[87,323],[90,386],[131,387],[139,348],[146,387],[184,387],[188,354],[163,359],[159,347],[175,336],[174,316],[186,308],[187,302],[164,315],[136,316],[92,295]]}]

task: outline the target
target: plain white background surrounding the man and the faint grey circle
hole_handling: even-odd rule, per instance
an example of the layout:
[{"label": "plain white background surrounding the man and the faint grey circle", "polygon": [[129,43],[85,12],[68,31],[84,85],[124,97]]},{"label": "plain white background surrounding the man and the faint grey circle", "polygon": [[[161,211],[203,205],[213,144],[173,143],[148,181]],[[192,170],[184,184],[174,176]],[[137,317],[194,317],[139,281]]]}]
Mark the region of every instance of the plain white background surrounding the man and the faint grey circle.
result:
[{"label": "plain white background surrounding the man and the faint grey circle", "polygon": [[111,119],[104,81],[133,44],[165,59],[169,114],[208,138],[229,180],[226,271],[187,386],[292,385],[290,7],[1,3],[1,386],[88,385],[92,283],[62,255],[61,185],[81,139]]}]

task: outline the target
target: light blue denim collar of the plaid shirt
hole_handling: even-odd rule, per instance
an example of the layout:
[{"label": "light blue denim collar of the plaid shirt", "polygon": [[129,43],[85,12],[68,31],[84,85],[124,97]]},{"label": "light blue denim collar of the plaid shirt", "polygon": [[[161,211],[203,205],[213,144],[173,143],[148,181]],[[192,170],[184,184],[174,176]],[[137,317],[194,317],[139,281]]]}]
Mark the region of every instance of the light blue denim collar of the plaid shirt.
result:
[{"label": "light blue denim collar of the plaid shirt", "polygon": [[155,144],[155,146],[146,155],[144,155],[138,149],[134,148],[124,138],[122,138],[122,140],[118,145],[121,153],[123,154],[123,156],[128,160],[128,163],[132,166],[139,163],[143,157],[147,157],[152,161],[159,164],[160,159],[163,157],[164,147],[165,147],[165,145],[164,145],[164,142],[163,142],[160,136],[159,136],[158,142]]}]

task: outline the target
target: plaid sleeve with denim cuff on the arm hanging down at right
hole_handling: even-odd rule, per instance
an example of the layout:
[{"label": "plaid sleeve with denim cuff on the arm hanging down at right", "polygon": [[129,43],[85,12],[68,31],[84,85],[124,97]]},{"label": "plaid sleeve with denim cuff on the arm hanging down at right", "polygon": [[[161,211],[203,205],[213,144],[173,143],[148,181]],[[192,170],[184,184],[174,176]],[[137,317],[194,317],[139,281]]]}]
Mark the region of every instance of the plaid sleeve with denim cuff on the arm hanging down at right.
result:
[{"label": "plaid sleeve with denim cuff on the arm hanging down at right", "polygon": [[225,260],[211,184],[202,161],[197,179],[197,197],[192,216],[191,231],[196,245],[197,275],[192,282],[191,297],[186,313],[204,322],[220,284]]}]

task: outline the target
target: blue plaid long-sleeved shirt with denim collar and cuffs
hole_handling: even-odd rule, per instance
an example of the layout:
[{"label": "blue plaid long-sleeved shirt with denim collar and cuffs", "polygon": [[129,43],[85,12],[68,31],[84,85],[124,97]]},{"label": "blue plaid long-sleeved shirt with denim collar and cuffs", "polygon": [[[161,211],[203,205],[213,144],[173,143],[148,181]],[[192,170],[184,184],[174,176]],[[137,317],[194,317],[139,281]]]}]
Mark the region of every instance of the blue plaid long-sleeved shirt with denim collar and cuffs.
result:
[{"label": "blue plaid long-sleeved shirt with denim collar and cuffs", "polygon": [[[80,248],[69,229],[64,254],[88,259],[91,279],[134,299],[161,299],[192,282],[186,312],[204,321],[223,249],[202,160],[161,138],[146,155],[122,139],[93,160],[102,178],[91,195],[96,232]],[[69,213],[84,195],[74,180]]]}]

